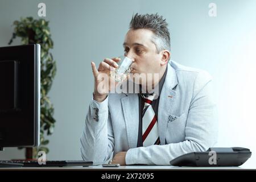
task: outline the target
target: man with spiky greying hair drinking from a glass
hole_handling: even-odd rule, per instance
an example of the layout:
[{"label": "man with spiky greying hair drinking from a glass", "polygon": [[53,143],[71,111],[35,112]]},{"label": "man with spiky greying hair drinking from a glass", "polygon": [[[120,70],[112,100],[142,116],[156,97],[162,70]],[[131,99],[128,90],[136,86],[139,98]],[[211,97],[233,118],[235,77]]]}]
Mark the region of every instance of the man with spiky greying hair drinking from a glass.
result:
[{"label": "man with spiky greying hair drinking from a glass", "polygon": [[169,61],[166,20],[158,14],[135,14],[123,47],[133,60],[134,77],[159,75],[147,78],[146,85],[135,83],[140,88],[158,86],[158,97],[152,92],[100,92],[104,80],[99,75],[110,75],[118,59],[105,59],[98,69],[92,62],[94,92],[81,136],[82,158],[94,164],[169,165],[177,156],[212,147],[217,141],[212,80],[207,72]]}]

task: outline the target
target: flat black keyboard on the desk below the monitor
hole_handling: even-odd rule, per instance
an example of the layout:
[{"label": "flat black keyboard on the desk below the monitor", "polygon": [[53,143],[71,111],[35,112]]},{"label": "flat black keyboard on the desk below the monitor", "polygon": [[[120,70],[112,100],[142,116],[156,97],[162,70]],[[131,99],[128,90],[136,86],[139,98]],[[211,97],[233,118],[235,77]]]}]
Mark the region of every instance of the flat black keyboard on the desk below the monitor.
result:
[{"label": "flat black keyboard on the desk below the monitor", "polygon": [[92,166],[93,162],[86,162],[84,160],[46,160],[46,164],[39,164],[36,160],[0,160],[1,167],[63,167],[63,166]]}]

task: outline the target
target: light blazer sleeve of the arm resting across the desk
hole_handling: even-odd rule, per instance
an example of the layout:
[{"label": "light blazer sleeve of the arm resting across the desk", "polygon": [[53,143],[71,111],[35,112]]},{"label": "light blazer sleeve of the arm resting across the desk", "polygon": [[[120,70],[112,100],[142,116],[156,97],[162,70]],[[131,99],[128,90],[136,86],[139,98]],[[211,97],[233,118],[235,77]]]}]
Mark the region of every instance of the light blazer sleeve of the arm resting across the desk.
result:
[{"label": "light blazer sleeve of the arm resting across the desk", "polygon": [[179,143],[131,148],[126,164],[170,165],[170,160],[194,151],[206,151],[217,142],[217,109],[212,98],[212,79],[206,72],[195,78],[189,105],[185,140]]}]

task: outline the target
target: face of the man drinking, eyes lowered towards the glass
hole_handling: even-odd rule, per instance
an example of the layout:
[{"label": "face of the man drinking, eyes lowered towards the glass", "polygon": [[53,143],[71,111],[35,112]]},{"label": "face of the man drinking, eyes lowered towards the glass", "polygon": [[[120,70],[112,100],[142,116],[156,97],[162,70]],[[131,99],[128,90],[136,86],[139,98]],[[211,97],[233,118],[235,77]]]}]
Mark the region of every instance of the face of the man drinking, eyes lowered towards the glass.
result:
[{"label": "face of the man drinking, eyes lowered towards the glass", "polygon": [[[156,46],[151,39],[154,33],[147,29],[129,30],[125,36],[123,47],[125,56],[134,60],[131,73],[159,73],[161,54],[157,53]],[[137,75],[137,74],[135,74]],[[137,75],[137,76],[138,76]],[[147,82],[150,81],[147,79]],[[141,81],[140,81],[141,83]]]}]

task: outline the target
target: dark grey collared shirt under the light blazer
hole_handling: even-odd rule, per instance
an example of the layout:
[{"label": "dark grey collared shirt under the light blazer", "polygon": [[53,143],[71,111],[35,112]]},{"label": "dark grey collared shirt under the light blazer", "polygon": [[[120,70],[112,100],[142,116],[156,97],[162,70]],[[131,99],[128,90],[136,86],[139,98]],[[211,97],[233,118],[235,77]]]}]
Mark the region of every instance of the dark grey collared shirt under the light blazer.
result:
[{"label": "dark grey collared shirt under the light blazer", "polygon": [[[156,100],[153,100],[151,106],[153,108],[153,110],[155,111],[156,114],[156,118],[158,118],[158,105],[159,105],[159,99],[160,99],[160,94],[161,94],[161,90],[164,84],[164,80],[166,79],[166,73],[167,73],[167,67],[166,67],[166,71],[164,72],[163,77],[161,78],[161,80],[159,81],[159,97]],[[137,143],[137,147],[142,147],[143,143],[142,143],[142,113],[143,113],[143,108],[144,108],[144,101],[142,100],[142,96],[141,94],[138,94],[139,97],[139,131],[138,131],[138,143]]]}]

